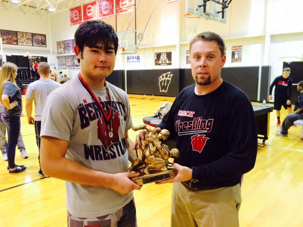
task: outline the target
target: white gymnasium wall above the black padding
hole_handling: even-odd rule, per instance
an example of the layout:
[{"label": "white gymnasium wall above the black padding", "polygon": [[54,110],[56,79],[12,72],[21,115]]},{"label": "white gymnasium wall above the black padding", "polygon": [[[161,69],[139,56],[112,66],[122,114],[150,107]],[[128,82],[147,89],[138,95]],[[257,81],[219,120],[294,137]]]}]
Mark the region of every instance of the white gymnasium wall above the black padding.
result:
[{"label": "white gymnasium wall above the black padding", "polygon": [[[138,33],[143,33],[154,3],[155,0],[140,1],[137,8]],[[188,68],[188,42],[200,32],[213,31],[226,42],[225,67],[269,64],[273,80],[281,71],[283,59],[302,61],[303,27],[298,13],[302,7],[301,0],[233,0],[227,8],[225,24],[202,18],[197,32],[188,34],[184,19],[185,0],[172,3],[158,0],[137,50],[142,54],[142,64],[127,66],[125,55],[118,55],[115,69]],[[126,30],[131,16],[132,13],[117,16],[118,31]],[[78,25],[69,25],[68,10],[52,15],[50,21],[52,51],[56,53],[56,42],[73,38]],[[104,21],[115,28],[115,17]],[[135,29],[133,22],[129,29]],[[232,46],[242,46],[241,63],[231,63]],[[155,66],[154,53],[165,51],[172,51],[172,65]]]}]

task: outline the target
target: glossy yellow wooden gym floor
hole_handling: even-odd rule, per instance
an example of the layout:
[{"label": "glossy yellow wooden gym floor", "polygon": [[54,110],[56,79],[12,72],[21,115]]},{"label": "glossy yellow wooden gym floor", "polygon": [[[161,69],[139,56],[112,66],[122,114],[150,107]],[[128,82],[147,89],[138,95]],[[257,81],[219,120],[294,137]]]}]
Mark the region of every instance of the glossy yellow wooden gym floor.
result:
[{"label": "glossy yellow wooden gym floor", "polygon": [[[129,95],[134,125],[152,116],[171,97]],[[23,96],[24,113],[25,98]],[[281,110],[281,120],[287,114]],[[291,127],[288,137],[277,137],[276,115],[270,114],[270,135],[265,144],[258,141],[255,168],[244,175],[241,227],[303,226],[303,141],[301,127]],[[28,159],[16,150],[17,164],[25,173],[8,174],[7,162],[0,160],[0,226],[66,226],[65,184],[52,177],[38,176],[38,148],[33,125],[21,118],[21,132]],[[134,141],[136,132],[129,130]],[[171,184],[144,185],[135,191],[138,226],[170,226]]]}]

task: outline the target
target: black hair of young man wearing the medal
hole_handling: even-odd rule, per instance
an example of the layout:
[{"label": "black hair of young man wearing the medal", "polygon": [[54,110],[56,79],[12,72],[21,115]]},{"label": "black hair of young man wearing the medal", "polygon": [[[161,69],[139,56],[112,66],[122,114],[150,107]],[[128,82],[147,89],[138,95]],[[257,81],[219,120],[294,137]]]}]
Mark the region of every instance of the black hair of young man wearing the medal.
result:
[{"label": "black hair of young man wearing the medal", "polygon": [[[115,54],[117,54],[119,40],[112,25],[108,25],[103,21],[90,20],[83,22],[75,32],[75,44],[81,53],[85,46],[93,48],[100,43],[104,50],[114,44]],[[81,56],[81,58],[83,57]],[[80,62],[80,59],[78,59],[78,62]]]}]

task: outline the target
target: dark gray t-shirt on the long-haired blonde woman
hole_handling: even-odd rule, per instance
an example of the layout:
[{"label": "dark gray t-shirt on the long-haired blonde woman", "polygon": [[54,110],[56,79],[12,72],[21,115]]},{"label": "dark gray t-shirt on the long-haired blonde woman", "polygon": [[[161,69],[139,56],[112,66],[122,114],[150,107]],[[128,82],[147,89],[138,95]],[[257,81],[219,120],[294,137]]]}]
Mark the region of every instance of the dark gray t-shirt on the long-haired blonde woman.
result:
[{"label": "dark gray t-shirt on the long-haired blonde woman", "polygon": [[8,110],[5,105],[3,105],[1,113],[12,117],[20,117],[22,113],[22,95],[19,87],[11,81],[7,81],[3,86],[2,95],[4,94],[8,95],[9,103],[17,101],[18,105],[11,110]]}]

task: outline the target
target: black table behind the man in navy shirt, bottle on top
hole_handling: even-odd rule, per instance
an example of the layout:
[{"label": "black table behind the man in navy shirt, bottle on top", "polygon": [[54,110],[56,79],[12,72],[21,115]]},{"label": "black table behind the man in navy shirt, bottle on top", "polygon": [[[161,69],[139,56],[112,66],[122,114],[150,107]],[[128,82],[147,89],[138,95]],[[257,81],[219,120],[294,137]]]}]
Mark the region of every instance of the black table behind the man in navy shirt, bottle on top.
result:
[{"label": "black table behind the man in navy shirt, bottle on top", "polygon": [[[268,140],[269,135],[269,117],[270,112],[274,109],[271,106],[260,106],[260,105],[252,105],[256,117],[257,122],[257,129],[258,129],[258,138],[263,139],[262,142],[264,143],[265,140]],[[157,117],[144,117],[143,123],[151,125],[151,126],[157,126],[162,121],[162,118]]]}]

